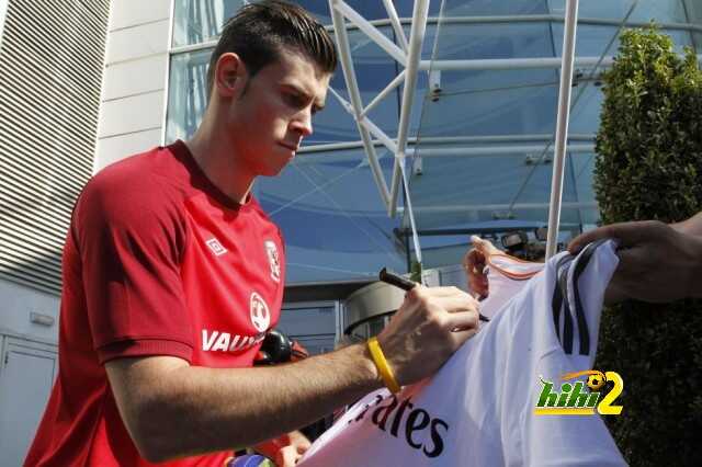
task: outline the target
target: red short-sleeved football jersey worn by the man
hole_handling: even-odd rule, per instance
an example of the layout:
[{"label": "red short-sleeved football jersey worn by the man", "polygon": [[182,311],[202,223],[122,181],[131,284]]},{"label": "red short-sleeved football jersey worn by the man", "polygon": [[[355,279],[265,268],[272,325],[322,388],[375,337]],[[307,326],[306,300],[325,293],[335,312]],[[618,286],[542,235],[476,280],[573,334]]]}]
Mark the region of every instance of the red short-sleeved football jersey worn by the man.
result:
[{"label": "red short-sleeved football jersey worn by the man", "polygon": [[[26,466],[146,466],[103,364],[171,355],[251,366],[280,317],[280,229],[222,193],[178,141],[98,173],[64,248],[59,371]],[[188,430],[188,426],[183,426]],[[220,466],[230,452],[168,463]]]}]

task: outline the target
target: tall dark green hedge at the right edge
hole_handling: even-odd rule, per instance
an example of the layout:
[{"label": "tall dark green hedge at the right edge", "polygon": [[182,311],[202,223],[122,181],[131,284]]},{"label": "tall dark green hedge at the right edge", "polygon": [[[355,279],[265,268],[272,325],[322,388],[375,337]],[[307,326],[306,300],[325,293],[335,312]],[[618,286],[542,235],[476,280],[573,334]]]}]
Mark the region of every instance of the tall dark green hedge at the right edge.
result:
[{"label": "tall dark green hedge at the right edge", "polygon": [[[595,191],[603,224],[702,210],[702,72],[655,26],[622,34],[603,77]],[[602,315],[596,367],[624,379],[607,423],[633,466],[702,465],[702,301]]]}]

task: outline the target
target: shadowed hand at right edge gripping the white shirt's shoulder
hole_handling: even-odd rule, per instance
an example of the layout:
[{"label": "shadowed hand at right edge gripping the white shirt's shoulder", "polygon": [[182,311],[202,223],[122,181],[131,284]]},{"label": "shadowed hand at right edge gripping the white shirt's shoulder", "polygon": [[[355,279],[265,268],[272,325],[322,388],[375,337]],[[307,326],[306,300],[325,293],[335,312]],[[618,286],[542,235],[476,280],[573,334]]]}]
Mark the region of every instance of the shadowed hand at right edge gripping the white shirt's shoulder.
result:
[{"label": "shadowed hand at right edge gripping the white shirt's shoulder", "polygon": [[619,241],[620,259],[605,303],[626,298],[663,303],[702,296],[702,237],[657,220],[623,223],[585,232],[568,250],[577,253],[603,238]]}]

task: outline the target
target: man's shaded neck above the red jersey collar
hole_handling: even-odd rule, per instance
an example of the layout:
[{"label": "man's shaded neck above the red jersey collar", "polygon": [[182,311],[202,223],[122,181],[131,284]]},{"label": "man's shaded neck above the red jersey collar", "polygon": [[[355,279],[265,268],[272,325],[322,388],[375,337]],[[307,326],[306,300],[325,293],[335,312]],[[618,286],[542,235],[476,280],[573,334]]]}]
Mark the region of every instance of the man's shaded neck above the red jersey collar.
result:
[{"label": "man's shaded neck above the red jersey collar", "polygon": [[231,200],[244,204],[254,176],[244,170],[227,141],[212,136],[215,133],[203,123],[185,145],[207,179]]}]

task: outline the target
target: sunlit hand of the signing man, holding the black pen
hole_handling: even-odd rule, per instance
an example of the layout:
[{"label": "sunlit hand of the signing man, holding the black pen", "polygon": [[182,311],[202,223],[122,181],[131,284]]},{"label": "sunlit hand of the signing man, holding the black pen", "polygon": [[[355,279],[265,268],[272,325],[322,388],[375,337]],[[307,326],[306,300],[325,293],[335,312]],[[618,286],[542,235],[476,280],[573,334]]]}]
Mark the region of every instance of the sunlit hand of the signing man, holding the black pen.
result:
[{"label": "sunlit hand of the signing man, holding the black pen", "polygon": [[433,375],[478,330],[478,303],[456,287],[409,291],[377,337],[400,385]]}]

